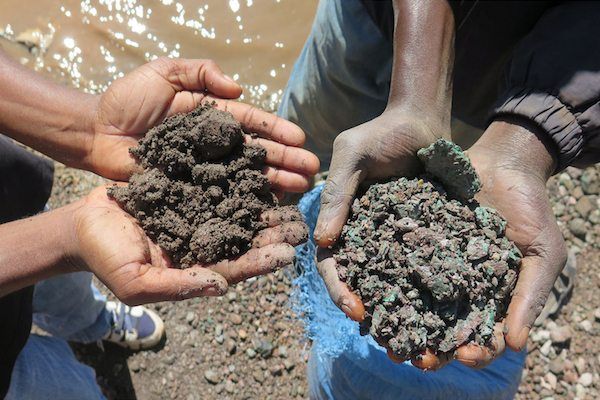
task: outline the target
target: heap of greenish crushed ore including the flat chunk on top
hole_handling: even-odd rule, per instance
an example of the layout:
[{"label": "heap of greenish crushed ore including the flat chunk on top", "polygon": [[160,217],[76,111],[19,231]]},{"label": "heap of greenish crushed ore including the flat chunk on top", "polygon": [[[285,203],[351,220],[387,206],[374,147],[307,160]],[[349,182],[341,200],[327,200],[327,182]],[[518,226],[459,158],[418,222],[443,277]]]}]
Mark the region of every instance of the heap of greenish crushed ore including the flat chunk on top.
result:
[{"label": "heap of greenish crushed ore including the flat chunk on top", "polygon": [[418,155],[429,174],[372,185],[334,249],[365,305],[361,334],[402,359],[489,344],[521,259],[506,221],[473,199],[479,179],[460,148],[440,140]]}]

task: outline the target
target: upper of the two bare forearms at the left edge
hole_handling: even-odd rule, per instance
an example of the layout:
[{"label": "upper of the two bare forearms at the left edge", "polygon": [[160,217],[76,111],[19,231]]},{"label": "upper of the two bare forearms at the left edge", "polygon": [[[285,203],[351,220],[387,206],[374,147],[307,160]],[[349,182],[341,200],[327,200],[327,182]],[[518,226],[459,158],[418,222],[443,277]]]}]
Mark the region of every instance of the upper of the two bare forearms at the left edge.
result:
[{"label": "upper of the two bare forearms at the left edge", "polygon": [[90,146],[96,96],[53,83],[0,51],[0,132],[79,166]]}]

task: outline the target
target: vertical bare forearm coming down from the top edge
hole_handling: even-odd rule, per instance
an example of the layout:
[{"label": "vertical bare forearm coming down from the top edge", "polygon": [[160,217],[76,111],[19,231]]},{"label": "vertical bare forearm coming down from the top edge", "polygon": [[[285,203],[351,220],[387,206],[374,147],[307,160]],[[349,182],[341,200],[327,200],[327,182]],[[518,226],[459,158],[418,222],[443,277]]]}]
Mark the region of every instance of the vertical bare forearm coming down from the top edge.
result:
[{"label": "vertical bare forearm coming down from the top edge", "polygon": [[450,127],[454,15],[445,0],[394,1],[394,62],[386,111]]}]

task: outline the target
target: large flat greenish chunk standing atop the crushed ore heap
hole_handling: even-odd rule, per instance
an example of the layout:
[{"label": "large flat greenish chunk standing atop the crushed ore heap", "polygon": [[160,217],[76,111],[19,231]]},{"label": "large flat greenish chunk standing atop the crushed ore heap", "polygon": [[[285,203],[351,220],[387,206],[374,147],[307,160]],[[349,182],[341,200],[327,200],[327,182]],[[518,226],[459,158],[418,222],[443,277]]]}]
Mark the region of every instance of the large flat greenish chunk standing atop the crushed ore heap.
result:
[{"label": "large flat greenish chunk standing atop the crushed ore heap", "polygon": [[425,171],[438,179],[450,196],[467,201],[481,189],[481,182],[469,157],[454,143],[439,139],[419,150],[417,156]]}]

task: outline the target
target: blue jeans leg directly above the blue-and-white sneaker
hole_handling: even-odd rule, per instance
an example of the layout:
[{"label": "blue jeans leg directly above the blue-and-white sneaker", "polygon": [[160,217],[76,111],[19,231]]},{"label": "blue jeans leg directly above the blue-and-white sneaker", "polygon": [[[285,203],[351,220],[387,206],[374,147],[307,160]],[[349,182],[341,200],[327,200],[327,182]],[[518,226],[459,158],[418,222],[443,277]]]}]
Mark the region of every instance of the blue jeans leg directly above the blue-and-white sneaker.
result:
[{"label": "blue jeans leg directly above the blue-and-white sneaker", "polygon": [[106,297],[89,272],[60,275],[35,285],[33,322],[65,340],[90,343],[110,330],[112,318]]}]

